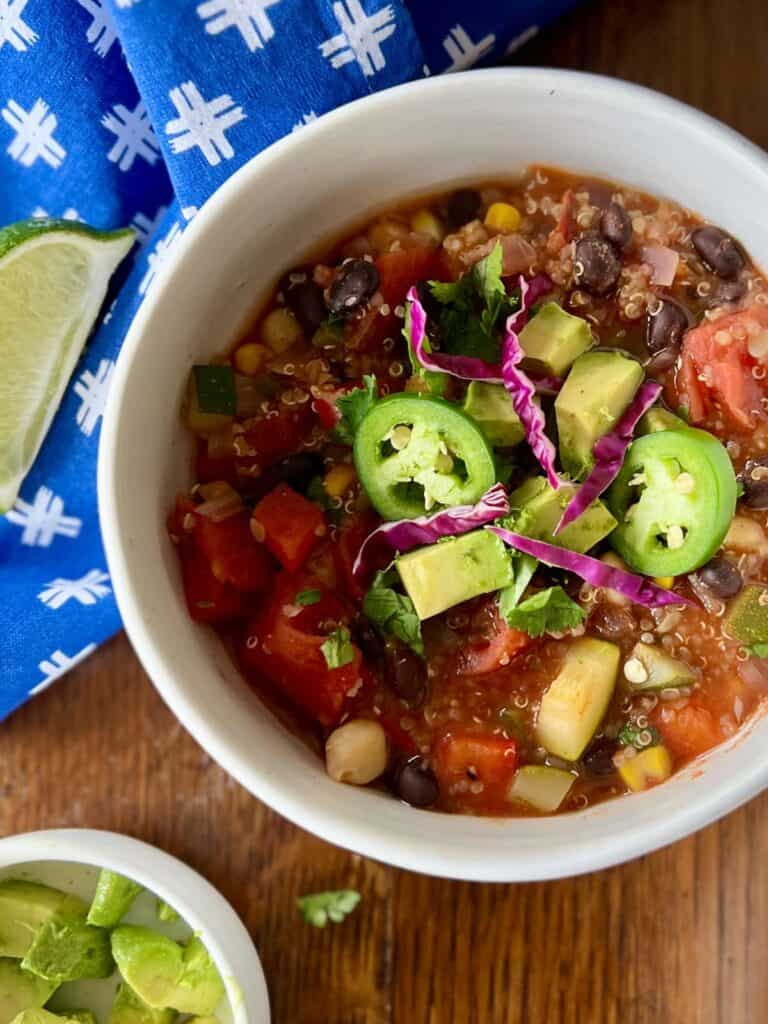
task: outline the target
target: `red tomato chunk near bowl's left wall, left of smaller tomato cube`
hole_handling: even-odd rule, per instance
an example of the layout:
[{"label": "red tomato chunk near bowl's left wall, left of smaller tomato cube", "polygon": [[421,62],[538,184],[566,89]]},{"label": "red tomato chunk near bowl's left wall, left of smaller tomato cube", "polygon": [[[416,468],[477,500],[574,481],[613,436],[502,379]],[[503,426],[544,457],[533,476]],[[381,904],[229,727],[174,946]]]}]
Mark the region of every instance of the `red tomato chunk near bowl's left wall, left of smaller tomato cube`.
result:
[{"label": "red tomato chunk near bowl's left wall, left of smaller tomato cube", "polygon": [[195,517],[195,543],[208,559],[211,571],[220,583],[237,590],[265,593],[274,575],[272,559],[259,544],[248,524],[248,512],[213,522],[202,515]]}]

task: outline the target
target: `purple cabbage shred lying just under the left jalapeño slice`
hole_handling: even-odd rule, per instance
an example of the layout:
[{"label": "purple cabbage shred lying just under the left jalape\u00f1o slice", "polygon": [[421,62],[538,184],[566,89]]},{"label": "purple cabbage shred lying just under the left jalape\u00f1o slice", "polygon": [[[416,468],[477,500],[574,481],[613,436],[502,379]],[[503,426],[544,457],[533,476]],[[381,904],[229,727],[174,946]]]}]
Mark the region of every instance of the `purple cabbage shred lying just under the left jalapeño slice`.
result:
[{"label": "purple cabbage shred lying just under the left jalape\u00f1o slice", "polygon": [[382,523],[362,542],[352,574],[357,578],[366,575],[369,556],[374,549],[380,550],[383,546],[389,551],[411,551],[425,544],[434,544],[443,537],[466,534],[505,515],[509,515],[507,493],[501,483],[496,483],[476,505],[455,505],[433,515]]}]

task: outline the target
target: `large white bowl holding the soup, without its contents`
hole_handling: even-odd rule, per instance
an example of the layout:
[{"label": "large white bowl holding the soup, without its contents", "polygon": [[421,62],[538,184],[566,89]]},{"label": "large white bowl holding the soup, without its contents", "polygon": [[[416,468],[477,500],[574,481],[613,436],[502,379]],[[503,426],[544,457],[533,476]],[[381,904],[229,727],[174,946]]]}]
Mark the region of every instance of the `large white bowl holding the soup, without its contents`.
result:
[{"label": "large white bowl holding the soup, without its contents", "polygon": [[165,531],[188,484],[187,372],[234,340],[278,273],[376,208],[544,162],[677,200],[768,265],[768,158],[657,93],[589,75],[473,72],[351,103],[283,139],[205,205],[145,300],[115,374],[99,466],[101,525],[134,647],[199,742],[297,824],[379,860],[461,879],[527,881],[671,843],[768,782],[768,720],[648,793],[543,819],[417,811],[340,788],[187,616]]}]

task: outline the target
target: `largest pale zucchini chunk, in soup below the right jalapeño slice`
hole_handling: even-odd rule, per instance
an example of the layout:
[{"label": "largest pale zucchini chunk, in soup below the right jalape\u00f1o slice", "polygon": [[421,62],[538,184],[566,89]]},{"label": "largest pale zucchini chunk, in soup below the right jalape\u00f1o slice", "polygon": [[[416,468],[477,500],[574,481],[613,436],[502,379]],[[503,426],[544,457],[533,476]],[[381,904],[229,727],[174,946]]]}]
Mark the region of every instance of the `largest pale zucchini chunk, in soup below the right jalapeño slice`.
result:
[{"label": "largest pale zucchini chunk, in soup below the right jalape\u00f1o slice", "polygon": [[565,761],[582,756],[610,703],[621,655],[604,640],[580,637],[570,644],[539,709],[537,737],[550,754]]}]

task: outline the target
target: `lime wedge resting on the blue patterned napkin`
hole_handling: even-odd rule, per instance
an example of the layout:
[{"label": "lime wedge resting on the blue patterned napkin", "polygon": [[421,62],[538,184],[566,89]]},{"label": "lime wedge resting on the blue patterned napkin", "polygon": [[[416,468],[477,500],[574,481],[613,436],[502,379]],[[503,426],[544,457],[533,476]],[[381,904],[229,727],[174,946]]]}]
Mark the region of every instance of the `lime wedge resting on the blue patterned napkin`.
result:
[{"label": "lime wedge resting on the blue patterned napkin", "polygon": [[0,513],[15,501],[134,232],[69,220],[0,230]]}]

